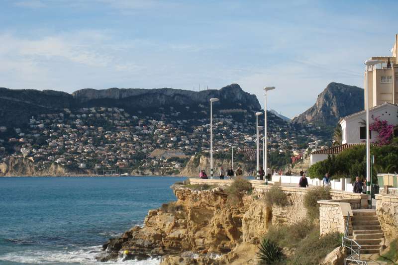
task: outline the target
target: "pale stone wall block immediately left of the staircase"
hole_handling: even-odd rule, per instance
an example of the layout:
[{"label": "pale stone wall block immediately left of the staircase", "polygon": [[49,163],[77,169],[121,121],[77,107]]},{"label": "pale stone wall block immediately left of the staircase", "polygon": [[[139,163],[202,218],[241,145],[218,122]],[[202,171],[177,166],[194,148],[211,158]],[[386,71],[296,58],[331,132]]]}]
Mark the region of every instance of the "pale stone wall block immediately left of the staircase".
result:
[{"label": "pale stone wall block immediately left of the staircase", "polygon": [[[340,201],[335,200],[320,200],[319,207],[319,232],[320,235],[339,232],[344,233],[347,226],[347,216],[350,214],[349,233],[352,233],[352,210],[349,199]],[[355,199],[354,199],[355,200]]]}]

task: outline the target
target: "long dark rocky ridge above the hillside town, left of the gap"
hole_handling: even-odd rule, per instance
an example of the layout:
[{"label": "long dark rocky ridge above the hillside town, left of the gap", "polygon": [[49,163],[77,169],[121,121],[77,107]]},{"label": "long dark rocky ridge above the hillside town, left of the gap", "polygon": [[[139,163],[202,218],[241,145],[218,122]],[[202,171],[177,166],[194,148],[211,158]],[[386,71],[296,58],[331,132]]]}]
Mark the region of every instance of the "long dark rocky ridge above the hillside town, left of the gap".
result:
[{"label": "long dark rocky ridge above the hillside town, left of the gap", "polygon": [[[7,127],[21,126],[31,116],[42,113],[56,113],[63,108],[82,107],[120,107],[130,114],[137,111],[152,113],[159,107],[169,107],[181,111],[182,115],[198,108],[199,104],[208,105],[209,98],[217,97],[215,109],[260,110],[261,106],[255,95],[249,94],[237,85],[231,84],[221,89],[191,91],[172,88],[135,89],[109,88],[103,90],[81,89],[68,94],[54,90],[7,89],[0,88],[0,125]],[[181,118],[181,117],[180,117]]]}]

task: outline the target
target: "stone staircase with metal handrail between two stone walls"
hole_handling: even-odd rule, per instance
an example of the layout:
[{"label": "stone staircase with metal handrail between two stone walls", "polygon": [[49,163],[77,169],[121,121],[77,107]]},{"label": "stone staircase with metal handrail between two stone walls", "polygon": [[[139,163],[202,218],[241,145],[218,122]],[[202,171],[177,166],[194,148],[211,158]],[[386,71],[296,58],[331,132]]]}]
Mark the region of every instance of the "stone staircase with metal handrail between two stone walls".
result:
[{"label": "stone staircase with metal handrail between two stone walls", "polygon": [[361,254],[380,253],[384,235],[376,210],[352,210],[352,239],[361,246]]}]

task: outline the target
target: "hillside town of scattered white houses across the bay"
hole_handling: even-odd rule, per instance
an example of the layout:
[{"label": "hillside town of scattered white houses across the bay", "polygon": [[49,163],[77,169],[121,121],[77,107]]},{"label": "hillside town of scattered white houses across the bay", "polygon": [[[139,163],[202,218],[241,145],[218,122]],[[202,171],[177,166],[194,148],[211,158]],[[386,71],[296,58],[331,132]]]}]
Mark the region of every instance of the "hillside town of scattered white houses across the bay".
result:
[{"label": "hillside town of scattered white houses across the bay", "polygon": [[[177,175],[191,156],[209,152],[209,120],[180,120],[173,107],[159,111],[161,119],[156,120],[117,107],[65,108],[33,116],[25,127],[1,125],[0,162],[27,158],[39,169],[55,163],[81,175]],[[243,121],[228,111],[213,115],[214,154],[227,154],[235,146],[235,152],[254,163],[255,116],[247,111],[242,115]],[[268,116],[269,152],[281,159],[288,154],[296,162],[327,144],[319,127]]]}]

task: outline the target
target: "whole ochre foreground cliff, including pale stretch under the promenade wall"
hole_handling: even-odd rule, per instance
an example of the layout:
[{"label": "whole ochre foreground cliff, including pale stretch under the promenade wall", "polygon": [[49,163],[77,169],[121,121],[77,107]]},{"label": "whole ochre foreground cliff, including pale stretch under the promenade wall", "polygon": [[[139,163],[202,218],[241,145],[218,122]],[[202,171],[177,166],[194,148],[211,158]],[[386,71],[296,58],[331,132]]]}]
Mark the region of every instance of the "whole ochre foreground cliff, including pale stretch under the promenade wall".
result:
[{"label": "whole ochre foreground cliff, including pale stretch under the promenade wall", "polygon": [[[103,245],[100,261],[163,257],[162,265],[255,265],[257,246],[271,225],[289,225],[305,217],[302,194],[286,191],[288,206],[268,206],[262,193],[240,194],[231,205],[223,187],[195,190],[174,185],[176,202],[150,210],[144,227],[133,227]],[[301,194],[302,193],[302,194]]]}]

